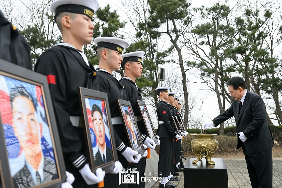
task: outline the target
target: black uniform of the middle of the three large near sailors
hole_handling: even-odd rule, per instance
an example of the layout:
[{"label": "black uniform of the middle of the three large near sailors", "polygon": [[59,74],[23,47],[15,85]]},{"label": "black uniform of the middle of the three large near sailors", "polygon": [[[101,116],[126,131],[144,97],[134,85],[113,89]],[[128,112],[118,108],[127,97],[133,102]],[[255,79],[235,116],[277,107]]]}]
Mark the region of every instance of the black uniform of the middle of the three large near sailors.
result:
[{"label": "black uniform of the middle of the three large near sailors", "polygon": [[[97,69],[97,76],[99,77],[100,89],[99,91],[105,92],[108,94],[109,106],[111,118],[120,117],[120,111],[117,106],[117,99],[127,100],[125,94],[124,86],[112,76],[108,71],[104,69]],[[113,122],[112,122],[113,123]],[[126,146],[129,146],[127,135],[124,129],[123,124],[113,124],[114,134],[115,134],[115,144],[117,147],[117,157],[123,168],[129,167],[129,162],[121,154]],[[119,185],[119,174],[106,174],[104,178],[104,187],[113,188],[113,187],[127,187],[128,184]]]}]

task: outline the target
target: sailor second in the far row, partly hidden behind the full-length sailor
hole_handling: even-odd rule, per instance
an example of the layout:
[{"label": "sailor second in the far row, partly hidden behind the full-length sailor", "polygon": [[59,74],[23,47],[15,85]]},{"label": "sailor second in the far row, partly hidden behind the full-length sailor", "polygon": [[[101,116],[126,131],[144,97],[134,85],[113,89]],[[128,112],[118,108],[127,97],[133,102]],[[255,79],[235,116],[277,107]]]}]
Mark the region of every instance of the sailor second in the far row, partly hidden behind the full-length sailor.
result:
[{"label": "sailor second in the far row, partly hidden behind the full-length sailor", "polygon": [[[181,120],[179,119],[179,112],[178,112],[178,109],[177,109],[177,104],[178,104],[178,100],[179,100],[179,95],[175,95],[174,96],[174,103],[172,104],[172,107],[174,109],[174,114],[175,114],[175,117],[177,117],[178,121],[181,122]],[[177,123],[177,122],[176,122]],[[180,126],[178,123],[178,129],[180,129]],[[182,132],[180,132],[180,135],[183,136],[183,137],[186,137],[187,134]],[[180,166],[180,152],[181,152],[181,149],[182,148],[182,141],[177,141],[176,142],[176,146],[175,146],[175,161],[174,161],[174,172],[183,172],[183,169],[181,169],[179,166]],[[172,174],[173,175],[173,174]]]}]

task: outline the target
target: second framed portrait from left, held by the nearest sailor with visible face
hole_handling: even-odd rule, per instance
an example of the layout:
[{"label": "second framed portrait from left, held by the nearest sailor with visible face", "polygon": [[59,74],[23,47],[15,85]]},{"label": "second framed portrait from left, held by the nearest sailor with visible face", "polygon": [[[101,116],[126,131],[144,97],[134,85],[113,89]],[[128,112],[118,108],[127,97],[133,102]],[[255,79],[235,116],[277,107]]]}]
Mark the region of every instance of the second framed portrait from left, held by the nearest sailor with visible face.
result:
[{"label": "second framed portrait from left, held by the nearest sailor with visible face", "polygon": [[78,94],[90,169],[111,172],[118,159],[107,94],[83,87]]}]

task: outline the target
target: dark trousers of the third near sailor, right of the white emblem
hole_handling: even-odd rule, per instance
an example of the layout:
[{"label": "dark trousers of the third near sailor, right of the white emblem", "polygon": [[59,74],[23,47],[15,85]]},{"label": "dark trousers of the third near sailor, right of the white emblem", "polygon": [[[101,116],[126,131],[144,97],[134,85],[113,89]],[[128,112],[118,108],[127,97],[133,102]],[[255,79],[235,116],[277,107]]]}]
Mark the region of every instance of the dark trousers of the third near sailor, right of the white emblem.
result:
[{"label": "dark trousers of the third near sailor, right of the white emblem", "polygon": [[139,171],[139,185],[137,184],[128,184],[128,188],[144,188],[145,187],[145,178],[146,174],[146,157],[142,157],[138,163],[130,163],[129,168],[137,168],[136,171]]}]

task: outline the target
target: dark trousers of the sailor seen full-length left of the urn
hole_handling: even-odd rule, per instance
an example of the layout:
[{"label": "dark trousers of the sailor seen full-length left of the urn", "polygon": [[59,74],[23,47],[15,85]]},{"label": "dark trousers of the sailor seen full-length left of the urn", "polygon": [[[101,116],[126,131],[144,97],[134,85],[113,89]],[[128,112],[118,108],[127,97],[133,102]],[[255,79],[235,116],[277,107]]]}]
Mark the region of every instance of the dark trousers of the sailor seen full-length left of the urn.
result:
[{"label": "dark trousers of the sailor seen full-length left of the urn", "polygon": [[171,166],[172,136],[160,138],[159,177],[168,177]]}]

